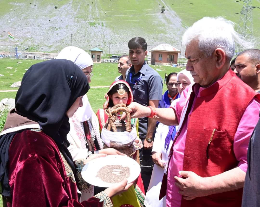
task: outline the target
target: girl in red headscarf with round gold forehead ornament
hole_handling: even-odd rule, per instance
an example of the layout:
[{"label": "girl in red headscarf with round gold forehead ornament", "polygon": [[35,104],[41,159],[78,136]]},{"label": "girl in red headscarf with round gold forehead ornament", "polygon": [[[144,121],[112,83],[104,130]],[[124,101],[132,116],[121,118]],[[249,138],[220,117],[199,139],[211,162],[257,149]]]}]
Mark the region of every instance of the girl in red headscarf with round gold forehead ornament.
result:
[{"label": "girl in red headscarf with round gold forehead ornament", "polygon": [[[104,110],[108,109],[109,107],[113,107],[116,104],[124,103],[128,106],[130,103],[133,102],[133,94],[129,84],[126,81],[115,81],[113,82],[108,92],[105,95],[107,101],[103,105],[103,109],[99,109],[97,111],[97,118],[99,120],[99,127],[100,132],[102,128],[105,126],[107,122],[108,116],[105,114]],[[120,113],[121,114],[121,113]],[[121,116],[116,117],[119,121]],[[134,118],[131,119],[131,124],[138,129],[138,119]],[[137,132],[138,133],[138,132]],[[138,138],[136,142],[141,142]],[[137,162],[139,162],[139,152],[138,150],[135,151],[134,155],[132,156]],[[136,179],[134,186],[129,188],[126,192],[122,193],[121,195],[114,196],[112,198],[113,204],[115,206],[135,206],[140,207],[144,205],[144,185],[142,183],[141,175]]]}]

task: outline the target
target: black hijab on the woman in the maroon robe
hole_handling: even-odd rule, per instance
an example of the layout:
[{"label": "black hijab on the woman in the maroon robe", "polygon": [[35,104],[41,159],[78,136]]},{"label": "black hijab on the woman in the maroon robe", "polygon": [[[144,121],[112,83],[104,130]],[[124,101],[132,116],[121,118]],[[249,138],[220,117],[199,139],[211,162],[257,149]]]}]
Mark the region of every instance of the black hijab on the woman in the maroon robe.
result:
[{"label": "black hijab on the woman in the maroon robe", "polygon": [[[72,61],[55,59],[32,65],[24,74],[15,97],[18,115],[38,122],[50,136],[75,173],[72,157],[67,149],[70,130],[68,109],[89,90],[86,76]],[[0,137],[0,181],[2,195],[11,196],[8,180],[8,151],[17,132]]]}]

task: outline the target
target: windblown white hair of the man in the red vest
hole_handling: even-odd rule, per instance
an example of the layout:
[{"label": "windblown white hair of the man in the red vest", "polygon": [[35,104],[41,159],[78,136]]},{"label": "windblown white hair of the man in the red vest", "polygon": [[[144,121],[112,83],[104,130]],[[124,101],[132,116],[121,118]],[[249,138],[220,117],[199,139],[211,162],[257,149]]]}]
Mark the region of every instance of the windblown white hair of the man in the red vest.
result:
[{"label": "windblown white hair of the man in the red vest", "polygon": [[235,53],[235,44],[244,49],[252,48],[253,43],[246,41],[234,29],[234,23],[223,17],[203,17],[187,29],[182,37],[182,43],[189,45],[198,41],[200,51],[206,57],[212,55],[215,49],[222,48],[230,61]]}]

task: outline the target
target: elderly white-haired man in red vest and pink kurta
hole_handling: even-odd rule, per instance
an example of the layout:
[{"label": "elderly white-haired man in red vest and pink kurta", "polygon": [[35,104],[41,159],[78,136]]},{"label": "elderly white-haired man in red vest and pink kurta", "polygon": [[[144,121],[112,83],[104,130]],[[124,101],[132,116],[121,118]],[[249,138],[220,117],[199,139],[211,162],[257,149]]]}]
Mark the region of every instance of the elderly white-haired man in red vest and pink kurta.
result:
[{"label": "elderly white-haired man in red vest and pink kurta", "polygon": [[248,143],[259,118],[260,95],[229,69],[229,63],[235,43],[251,45],[222,17],[195,22],[182,42],[186,70],[195,84],[171,108],[132,103],[129,111],[132,117],[179,125],[160,192],[160,197],[166,194],[168,207],[241,206]]}]

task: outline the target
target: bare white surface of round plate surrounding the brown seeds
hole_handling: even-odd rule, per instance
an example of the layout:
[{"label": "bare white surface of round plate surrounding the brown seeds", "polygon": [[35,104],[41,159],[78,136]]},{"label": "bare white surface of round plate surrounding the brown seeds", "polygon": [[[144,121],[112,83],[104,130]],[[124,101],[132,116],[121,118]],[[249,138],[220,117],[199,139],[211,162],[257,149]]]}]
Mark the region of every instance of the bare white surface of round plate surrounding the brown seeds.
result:
[{"label": "bare white surface of round plate surrounding the brown seeds", "polygon": [[130,176],[127,178],[127,183],[132,183],[138,178],[141,168],[140,165],[132,158],[122,155],[107,155],[106,157],[99,157],[88,162],[82,169],[82,178],[89,184],[109,188],[115,183],[107,183],[96,177],[97,172],[106,165],[122,165],[129,167]]}]

